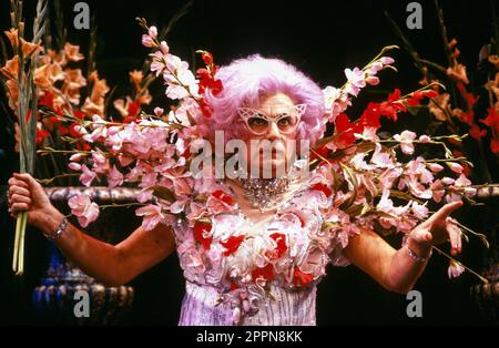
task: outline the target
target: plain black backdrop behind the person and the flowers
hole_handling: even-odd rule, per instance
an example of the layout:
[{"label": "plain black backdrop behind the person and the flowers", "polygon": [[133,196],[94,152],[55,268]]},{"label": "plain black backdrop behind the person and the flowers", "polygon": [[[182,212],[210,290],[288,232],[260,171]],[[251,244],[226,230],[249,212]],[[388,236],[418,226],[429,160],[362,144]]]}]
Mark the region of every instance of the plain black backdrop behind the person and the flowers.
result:
[{"label": "plain black backdrop behind the person and the flowers", "polygon": [[[34,1],[26,1],[34,8]],[[64,0],[64,16],[69,41],[81,44],[85,52],[89,32],[72,27],[72,7],[78,1]],[[141,45],[142,29],[135,17],[144,17],[159,28],[182,8],[185,1],[88,1],[99,27],[98,70],[110,85],[125,85],[128,71],[141,69],[147,51]],[[174,54],[193,61],[197,49],[210,50],[218,64],[251,53],[282,58],[297,65],[322,86],[339,86],[345,68],[363,66],[387,44],[400,44],[383,11],[387,10],[414,42],[422,57],[445,64],[434,1],[422,4],[424,29],[405,27],[406,6],[410,1],[207,1],[195,0],[189,13],[167,38]],[[489,1],[440,1],[450,37],[459,40],[461,61],[475,69],[480,48],[490,42],[491,12]],[[9,28],[8,1],[0,0],[0,29]],[[28,9],[27,9],[28,10]],[[28,10],[28,16],[30,11]],[[394,86],[411,91],[420,79],[408,54],[394,53],[399,73],[384,72],[378,91]],[[473,80],[475,76],[470,75]],[[379,94],[366,93],[366,99]],[[157,96],[154,105],[166,100]],[[355,111],[356,109],[354,109]],[[1,114],[1,112],[0,112]],[[0,117],[1,119],[1,117]],[[4,120],[0,120],[0,180],[7,183],[17,170],[12,140],[4,134]],[[421,120],[400,117],[406,127],[421,126]],[[424,124],[422,124],[424,125]],[[132,212],[130,214],[133,214]],[[490,207],[464,208],[460,218],[479,229],[485,219],[495,216]],[[130,231],[133,231],[130,226]],[[40,324],[31,306],[31,289],[47,268],[48,244],[38,233],[28,234],[27,276],[14,279],[10,264],[13,224],[4,208],[0,216],[0,324]],[[390,239],[395,245],[397,237]],[[473,269],[482,267],[482,247],[471,242],[465,248],[462,260]],[[390,294],[355,267],[329,267],[328,276],[319,285],[317,300],[318,325],[427,325],[427,324],[491,324],[478,311],[469,296],[477,279],[465,274],[461,278],[447,278],[447,262],[435,255],[416,289],[422,293],[424,317],[411,319],[406,315],[408,300]],[[182,276],[176,256],[132,282],[136,289],[135,306],[125,318],[133,325],[176,325],[183,293]]]}]

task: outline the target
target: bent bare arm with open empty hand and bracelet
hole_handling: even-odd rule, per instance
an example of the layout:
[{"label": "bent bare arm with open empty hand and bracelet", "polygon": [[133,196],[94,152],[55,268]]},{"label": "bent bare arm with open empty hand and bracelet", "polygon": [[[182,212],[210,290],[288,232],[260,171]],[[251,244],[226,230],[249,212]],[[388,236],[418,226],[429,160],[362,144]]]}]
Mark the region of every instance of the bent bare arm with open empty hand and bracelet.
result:
[{"label": "bent bare arm with open empty hand and bracelet", "polygon": [[426,262],[415,259],[409,249],[419,257],[428,258],[431,246],[450,238],[452,254],[460,252],[460,233],[448,215],[461,203],[449,203],[408,236],[407,247],[394,249],[373,231],[364,231],[350,238],[345,256],[370,275],[388,290],[407,294],[425,270]]}]

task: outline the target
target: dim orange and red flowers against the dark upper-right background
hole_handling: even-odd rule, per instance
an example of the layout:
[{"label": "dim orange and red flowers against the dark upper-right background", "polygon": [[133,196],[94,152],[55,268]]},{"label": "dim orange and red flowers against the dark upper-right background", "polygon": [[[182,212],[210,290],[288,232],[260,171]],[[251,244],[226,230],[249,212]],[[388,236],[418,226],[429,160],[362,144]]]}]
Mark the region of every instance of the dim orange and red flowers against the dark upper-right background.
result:
[{"label": "dim orange and red flowers against the dark upper-right background", "polygon": [[[430,131],[434,133],[442,130],[450,133],[468,133],[471,140],[476,142],[475,145],[478,150],[479,155],[473,156],[473,162],[478,162],[481,172],[479,175],[485,181],[490,182],[492,174],[488,167],[488,162],[497,163],[499,156],[499,51],[497,50],[499,24],[493,16],[496,9],[491,2],[492,25],[495,27],[492,42],[495,41],[495,43],[486,44],[481,49],[479,69],[473,71],[475,74],[470,81],[469,69],[460,61],[461,51],[458,49],[458,40],[456,38],[450,39],[444,20],[444,11],[438,1],[435,1],[435,4],[444,50],[447,55],[446,63],[424,59],[397,23],[388,13],[386,14],[404,48],[411,57],[415,66],[421,73],[420,84],[435,83],[435,91],[438,95],[431,98],[427,105],[428,111],[434,116],[434,122],[429,127]],[[496,52],[493,52],[493,47]],[[480,73],[485,76],[483,84],[478,82]],[[444,84],[448,89],[445,89]],[[483,146],[487,143],[490,153],[496,156],[490,161],[487,161],[487,147]],[[464,153],[468,156],[471,155],[470,152],[472,151],[466,149],[471,146],[466,146],[462,142],[454,141],[452,146],[452,153],[456,156],[461,156]],[[470,175],[471,167],[465,166],[465,172]]]}]

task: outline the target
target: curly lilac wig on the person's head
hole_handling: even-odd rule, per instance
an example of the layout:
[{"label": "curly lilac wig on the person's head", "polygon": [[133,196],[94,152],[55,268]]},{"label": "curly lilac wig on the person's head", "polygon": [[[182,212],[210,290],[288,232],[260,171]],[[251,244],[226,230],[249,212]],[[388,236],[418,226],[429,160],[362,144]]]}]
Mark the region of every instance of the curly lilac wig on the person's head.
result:
[{"label": "curly lilac wig on the person's head", "polygon": [[237,130],[232,126],[238,117],[237,109],[255,108],[265,96],[282,92],[295,104],[307,104],[298,126],[297,139],[317,141],[325,131],[324,94],[320,88],[295,66],[259,54],[233,61],[222,66],[215,75],[222,80],[223,92],[206,94],[213,114],[206,121],[210,135],[225,131],[225,140],[233,139]]}]

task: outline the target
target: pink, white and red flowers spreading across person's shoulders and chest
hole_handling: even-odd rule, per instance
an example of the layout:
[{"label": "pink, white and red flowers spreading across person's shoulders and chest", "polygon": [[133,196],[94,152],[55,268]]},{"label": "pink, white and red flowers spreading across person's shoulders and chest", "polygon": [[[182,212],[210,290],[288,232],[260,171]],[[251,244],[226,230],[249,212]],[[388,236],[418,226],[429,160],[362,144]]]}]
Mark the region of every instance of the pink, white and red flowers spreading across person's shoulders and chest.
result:
[{"label": "pink, white and red flowers spreading across person's shoulders and chest", "polygon": [[[149,27],[144,19],[139,22],[145,31],[142,43],[151,49],[150,71],[164,81],[165,95],[176,105],[169,111],[155,108],[153,114],[139,113],[140,105],[151,100],[140,88],[142,76],[134,73],[135,98],[115,102],[123,119],[106,119],[102,100],[108,89],[95,74],[94,93],[85,99],[82,115],[71,114],[79,104],[78,90],[84,85],[78,72],[61,72],[63,58],[81,58],[71,45],[41,60],[44,64],[37,76],[45,88],[42,104],[58,120],[72,122],[73,139],[81,145],[64,153],[70,155],[68,167],[78,173],[80,182],[90,186],[105,180],[110,187],[142,188],[133,204],[139,206],[135,214],[142,217],[142,227],[151,231],[160,223],[174,227],[185,277],[224,288],[221,300],[232,304],[235,323],[254,313],[263,297],[272,296],[273,282],[287,287],[318,282],[328,263],[345,262],[340,249],[364,228],[408,234],[428,217],[432,203],[473,203],[477,185],[471,185],[465,173],[465,166],[472,165],[447,146],[466,136],[404,131],[381,137],[378,132],[381,119],[396,122],[408,108],[438,98],[439,84],[430,83],[405,95],[395,90],[386,101],[368,103],[355,120],[346,114],[363,89],[380,82],[381,71],[395,70],[394,59],[386,54],[396,47],[388,47],[363,69],[346,69],[347,82],[342,88],[324,89],[324,123],[335,125],[334,134],[315,144],[309,161],[297,163],[296,171],[307,165],[312,175],[279,207],[265,232],[256,233],[226,184],[190,171],[191,146],[207,135],[211,108],[206,95],[224,91],[213,55],[197,51],[205,66],[194,73],[159,40],[155,27]],[[62,82],[61,88],[54,86],[57,81]],[[52,124],[57,122],[52,120]],[[444,156],[416,156],[420,147],[441,150]],[[57,151],[44,149],[41,153]],[[71,197],[69,205],[82,227],[99,216],[99,206],[84,195]],[[483,235],[458,225],[465,235],[477,235],[487,244]],[[450,259],[449,276],[467,269],[438,252]]]}]

